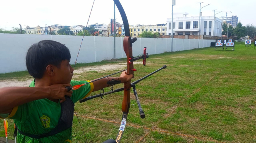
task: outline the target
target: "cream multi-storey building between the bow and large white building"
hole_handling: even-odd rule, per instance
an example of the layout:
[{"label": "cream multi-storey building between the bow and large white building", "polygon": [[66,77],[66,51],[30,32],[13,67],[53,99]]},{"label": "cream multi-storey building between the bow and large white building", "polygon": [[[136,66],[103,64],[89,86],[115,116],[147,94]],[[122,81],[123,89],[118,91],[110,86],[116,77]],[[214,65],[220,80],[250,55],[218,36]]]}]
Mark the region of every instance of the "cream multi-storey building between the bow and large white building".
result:
[{"label": "cream multi-storey building between the bow and large white building", "polygon": [[131,36],[137,37],[143,31],[152,31],[152,33],[159,33],[160,35],[166,35],[166,24],[156,24],[156,25],[136,25],[130,26]]}]

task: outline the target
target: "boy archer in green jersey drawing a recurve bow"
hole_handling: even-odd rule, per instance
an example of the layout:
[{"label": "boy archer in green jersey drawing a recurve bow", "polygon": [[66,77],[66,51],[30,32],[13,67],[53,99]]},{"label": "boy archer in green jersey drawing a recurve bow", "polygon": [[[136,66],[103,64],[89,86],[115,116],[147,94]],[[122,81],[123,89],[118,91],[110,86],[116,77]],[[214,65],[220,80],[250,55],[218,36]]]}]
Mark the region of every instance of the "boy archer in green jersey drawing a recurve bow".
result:
[{"label": "boy archer in green jersey drawing a recurve bow", "polygon": [[122,72],[119,78],[103,78],[69,91],[66,86],[90,82],[71,80],[74,69],[70,59],[69,49],[59,42],[33,44],[26,55],[26,66],[35,79],[30,87],[35,88],[0,92],[0,117],[14,120],[18,143],[71,143],[74,103],[108,87],[107,81],[124,83],[134,77]]}]

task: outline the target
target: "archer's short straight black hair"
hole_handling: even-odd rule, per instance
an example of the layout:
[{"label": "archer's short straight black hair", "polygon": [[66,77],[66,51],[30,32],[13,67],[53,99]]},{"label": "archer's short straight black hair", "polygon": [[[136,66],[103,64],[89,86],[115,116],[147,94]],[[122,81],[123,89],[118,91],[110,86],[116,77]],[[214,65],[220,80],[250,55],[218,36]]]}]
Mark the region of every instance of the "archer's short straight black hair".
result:
[{"label": "archer's short straight black hair", "polygon": [[60,68],[62,60],[70,59],[70,51],[65,45],[52,40],[42,40],[28,49],[26,65],[28,73],[33,78],[40,79],[48,65]]}]

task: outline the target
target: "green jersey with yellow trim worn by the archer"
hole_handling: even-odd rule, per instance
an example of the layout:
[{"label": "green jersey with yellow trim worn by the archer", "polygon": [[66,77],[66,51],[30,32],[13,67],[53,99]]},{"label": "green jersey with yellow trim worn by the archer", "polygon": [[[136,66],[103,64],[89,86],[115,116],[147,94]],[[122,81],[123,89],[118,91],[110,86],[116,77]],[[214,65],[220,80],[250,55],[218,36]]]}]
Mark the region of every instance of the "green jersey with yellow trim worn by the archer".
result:
[{"label": "green jersey with yellow trim worn by the archer", "polygon": [[[81,85],[90,81],[71,81],[70,85]],[[35,87],[35,82],[32,81],[30,87]],[[86,98],[94,89],[92,83],[81,86],[74,90],[71,100],[75,103],[80,99]],[[39,99],[28,102],[26,104],[14,107],[11,114],[0,114],[2,118],[13,119],[18,129],[23,133],[32,135],[40,135],[53,130],[60,118],[60,100],[58,103],[49,99]],[[55,135],[45,138],[31,138],[29,136],[17,133],[18,143],[71,143],[72,142],[72,127],[59,132]]]}]

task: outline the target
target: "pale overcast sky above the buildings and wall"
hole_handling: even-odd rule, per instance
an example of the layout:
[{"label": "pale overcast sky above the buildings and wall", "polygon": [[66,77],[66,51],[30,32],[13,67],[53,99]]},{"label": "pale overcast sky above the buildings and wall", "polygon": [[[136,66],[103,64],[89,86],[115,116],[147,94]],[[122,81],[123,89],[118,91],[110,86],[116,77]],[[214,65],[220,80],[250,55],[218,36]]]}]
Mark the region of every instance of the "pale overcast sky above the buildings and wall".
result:
[{"label": "pale overcast sky above the buildings and wall", "polygon": [[[176,0],[174,13],[187,12],[188,16],[199,15],[199,3],[202,8],[202,16],[213,16],[217,11],[232,11],[228,17],[237,15],[238,21],[256,25],[256,18],[249,15],[247,10],[253,10],[255,0]],[[68,26],[86,26],[93,0],[1,0],[0,1],[0,28],[10,30],[12,27],[25,26],[45,27],[51,24]],[[120,0],[124,7],[130,25],[136,24],[161,24],[171,18],[172,0]],[[216,12],[217,13],[217,12]],[[219,13],[217,17],[225,16]],[[114,1],[95,0],[94,8],[90,16],[89,24],[109,24],[114,18]],[[122,23],[119,11],[116,8],[117,22]]]}]

